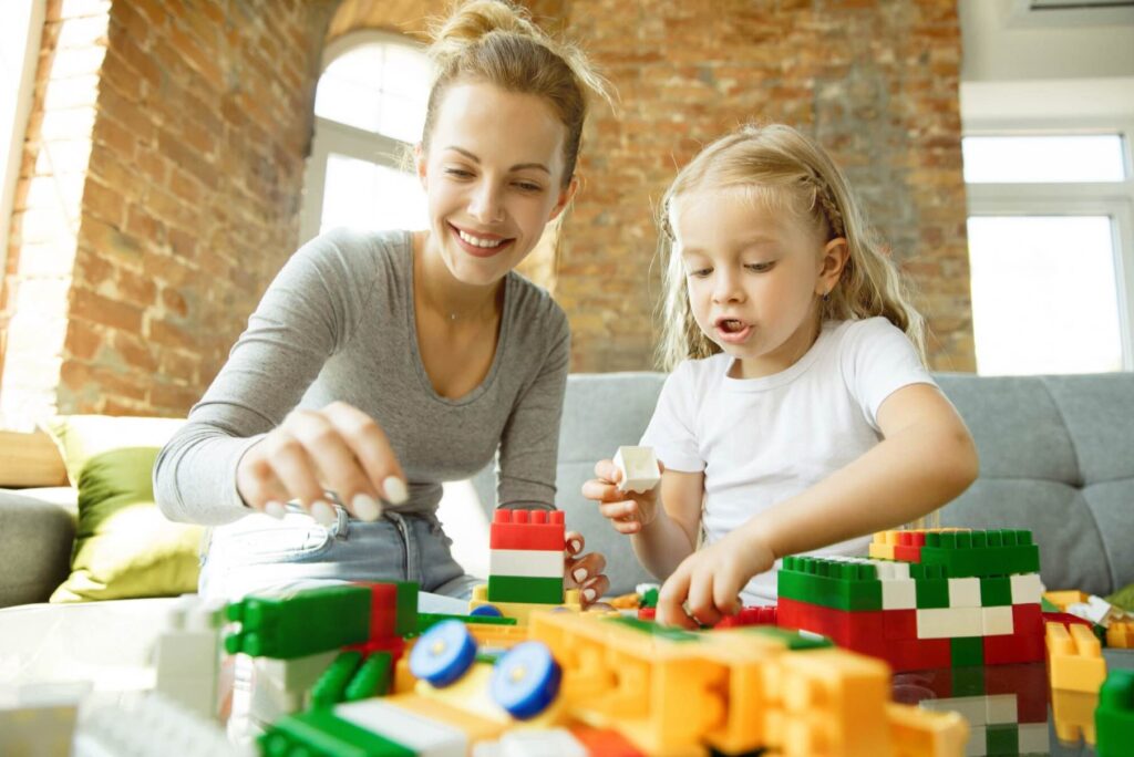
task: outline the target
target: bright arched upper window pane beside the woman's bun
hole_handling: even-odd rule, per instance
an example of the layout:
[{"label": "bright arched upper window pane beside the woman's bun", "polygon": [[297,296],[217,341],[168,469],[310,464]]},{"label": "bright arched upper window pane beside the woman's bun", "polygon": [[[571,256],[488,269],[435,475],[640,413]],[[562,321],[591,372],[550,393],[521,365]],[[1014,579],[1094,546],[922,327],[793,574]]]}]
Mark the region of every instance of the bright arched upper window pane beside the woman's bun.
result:
[{"label": "bright arched upper window pane beside the woman's bun", "polygon": [[335,59],[319,79],[315,114],[401,142],[421,139],[432,68],[404,44],[366,44]]}]

